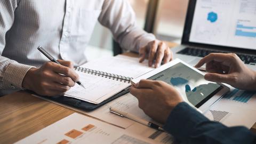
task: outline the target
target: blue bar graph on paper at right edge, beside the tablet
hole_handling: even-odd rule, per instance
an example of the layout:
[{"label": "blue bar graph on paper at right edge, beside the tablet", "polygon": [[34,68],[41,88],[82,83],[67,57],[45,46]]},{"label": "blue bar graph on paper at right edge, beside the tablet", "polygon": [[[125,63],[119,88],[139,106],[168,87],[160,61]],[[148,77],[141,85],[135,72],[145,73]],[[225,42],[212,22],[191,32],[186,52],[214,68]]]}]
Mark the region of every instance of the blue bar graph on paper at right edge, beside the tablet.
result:
[{"label": "blue bar graph on paper at right edge, beside the tablet", "polygon": [[256,92],[252,91],[239,91],[238,89],[234,89],[231,92],[224,95],[223,99],[233,100],[236,102],[247,103]]}]

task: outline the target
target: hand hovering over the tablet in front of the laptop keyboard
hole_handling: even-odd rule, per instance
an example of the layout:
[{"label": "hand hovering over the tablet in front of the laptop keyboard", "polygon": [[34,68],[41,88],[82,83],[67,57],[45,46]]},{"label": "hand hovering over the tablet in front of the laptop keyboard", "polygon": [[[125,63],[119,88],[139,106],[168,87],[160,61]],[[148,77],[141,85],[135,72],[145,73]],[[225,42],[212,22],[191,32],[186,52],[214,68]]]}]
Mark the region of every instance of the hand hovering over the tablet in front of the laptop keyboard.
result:
[{"label": "hand hovering over the tablet in front of the laptop keyboard", "polygon": [[234,53],[211,53],[200,60],[196,68],[206,63],[207,81],[227,83],[237,89],[256,90],[256,73],[246,67]]}]

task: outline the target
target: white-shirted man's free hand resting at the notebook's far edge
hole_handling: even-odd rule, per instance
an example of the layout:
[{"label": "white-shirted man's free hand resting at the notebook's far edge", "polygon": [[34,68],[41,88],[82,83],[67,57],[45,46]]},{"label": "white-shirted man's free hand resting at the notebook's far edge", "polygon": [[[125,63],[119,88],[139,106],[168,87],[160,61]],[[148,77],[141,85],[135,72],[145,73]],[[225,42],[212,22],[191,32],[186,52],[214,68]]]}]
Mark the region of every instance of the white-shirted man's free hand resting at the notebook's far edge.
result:
[{"label": "white-shirted man's free hand resting at the notebook's far edge", "polygon": [[167,46],[166,43],[158,40],[151,41],[146,46],[141,47],[139,54],[140,62],[143,62],[146,58],[148,58],[148,66],[151,67],[153,64],[155,64],[155,68],[161,65],[162,60],[163,64],[165,64],[171,61],[173,58],[170,47]]}]

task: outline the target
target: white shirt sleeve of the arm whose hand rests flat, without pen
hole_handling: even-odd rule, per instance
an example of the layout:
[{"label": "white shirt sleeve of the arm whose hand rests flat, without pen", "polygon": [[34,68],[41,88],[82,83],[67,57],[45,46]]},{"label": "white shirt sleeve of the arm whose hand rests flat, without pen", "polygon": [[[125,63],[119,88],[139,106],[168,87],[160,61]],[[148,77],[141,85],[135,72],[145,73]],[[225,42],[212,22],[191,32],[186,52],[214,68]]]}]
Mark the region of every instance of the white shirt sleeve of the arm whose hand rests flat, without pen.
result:
[{"label": "white shirt sleeve of the arm whose hand rests flat, without pen", "polygon": [[98,20],[111,30],[115,41],[125,50],[138,52],[156,39],[137,26],[135,13],[126,0],[106,0]]}]

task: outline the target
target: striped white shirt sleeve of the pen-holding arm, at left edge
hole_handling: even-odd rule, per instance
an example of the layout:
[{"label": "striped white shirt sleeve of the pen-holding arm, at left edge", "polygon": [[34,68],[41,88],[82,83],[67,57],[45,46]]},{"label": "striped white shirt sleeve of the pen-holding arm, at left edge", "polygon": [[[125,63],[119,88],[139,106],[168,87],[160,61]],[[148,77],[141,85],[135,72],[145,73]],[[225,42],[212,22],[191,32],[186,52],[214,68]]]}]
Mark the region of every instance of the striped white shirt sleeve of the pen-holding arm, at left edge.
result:
[{"label": "striped white shirt sleeve of the pen-holding arm, at left edge", "polygon": [[2,56],[5,35],[13,25],[14,11],[17,6],[16,0],[0,1],[0,90],[22,89],[23,78],[32,67]]}]

